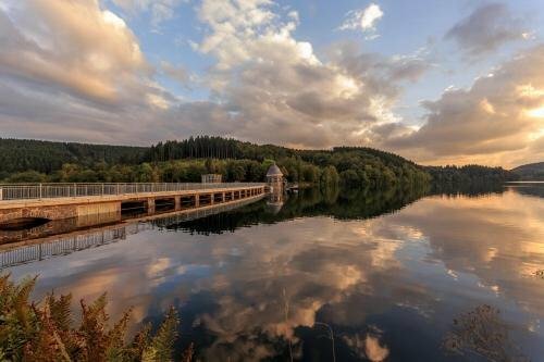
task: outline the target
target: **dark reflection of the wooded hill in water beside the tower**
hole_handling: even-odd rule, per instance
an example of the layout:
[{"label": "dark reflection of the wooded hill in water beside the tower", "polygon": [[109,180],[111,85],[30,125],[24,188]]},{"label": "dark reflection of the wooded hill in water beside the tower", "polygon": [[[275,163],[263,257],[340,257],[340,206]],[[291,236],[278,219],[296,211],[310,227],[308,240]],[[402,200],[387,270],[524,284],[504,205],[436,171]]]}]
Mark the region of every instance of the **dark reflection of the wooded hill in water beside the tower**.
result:
[{"label": "dark reflection of the wooded hill in water beside the tower", "polygon": [[198,234],[221,234],[257,224],[273,224],[302,216],[364,220],[392,213],[426,195],[425,188],[376,190],[305,189],[286,198],[281,210],[265,200],[208,217],[170,225],[170,229]]}]

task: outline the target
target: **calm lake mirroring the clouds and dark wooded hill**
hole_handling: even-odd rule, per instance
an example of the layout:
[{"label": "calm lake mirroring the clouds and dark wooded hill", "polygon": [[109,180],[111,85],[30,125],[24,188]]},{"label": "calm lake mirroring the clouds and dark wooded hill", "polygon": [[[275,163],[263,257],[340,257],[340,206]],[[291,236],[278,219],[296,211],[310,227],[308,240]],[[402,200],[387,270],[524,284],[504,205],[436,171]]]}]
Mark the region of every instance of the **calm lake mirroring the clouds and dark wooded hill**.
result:
[{"label": "calm lake mirroring the clouds and dark wooded hill", "polygon": [[75,310],[107,291],[113,319],[175,305],[205,361],[544,360],[542,184],[306,190],[132,227],[4,271]]}]

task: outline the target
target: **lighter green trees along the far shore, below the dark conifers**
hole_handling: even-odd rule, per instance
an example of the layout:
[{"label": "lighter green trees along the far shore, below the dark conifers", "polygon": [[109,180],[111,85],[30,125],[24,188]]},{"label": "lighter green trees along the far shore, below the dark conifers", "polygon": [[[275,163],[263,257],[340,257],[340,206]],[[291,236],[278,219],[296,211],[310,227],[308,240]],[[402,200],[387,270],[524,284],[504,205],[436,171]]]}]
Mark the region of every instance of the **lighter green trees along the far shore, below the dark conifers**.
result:
[{"label": "lighter green trees along the far shore, below the dark conifers", "polygon": [[14,173],[5,183],[199,183],[202,174],[221,174],[224,182],[263,182],[271,164],[276,163],[287,182],[306,186],[341,185],[349,188],[378,188],[395,185],[424,184],[426,173],[409,166],[390,168],[379,160],[364,160],[353,153],[331,158],[324,166],[284,158],[277,161],[185,159],[140,164],[108,164],[90,166],[65,163],[50,174],[37,171]]}]

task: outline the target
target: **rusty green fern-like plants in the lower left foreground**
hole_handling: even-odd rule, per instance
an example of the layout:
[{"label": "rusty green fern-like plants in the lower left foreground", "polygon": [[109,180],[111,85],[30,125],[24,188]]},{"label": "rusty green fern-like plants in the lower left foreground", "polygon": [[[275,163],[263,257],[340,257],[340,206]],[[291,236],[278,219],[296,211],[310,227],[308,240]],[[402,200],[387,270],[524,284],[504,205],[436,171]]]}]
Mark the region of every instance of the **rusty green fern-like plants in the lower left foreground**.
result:
[{"label": "rusty green fern-like plants in the lower left foreground", "polygon": [[[131,311],[113,326],[102,295],[91,304],[81,301],[82,317],[75,324],[72,296],[47,296],[29,301],[36,278],[20,284],[0,276],[0,361],[172,361],[178,317],[171,309],[157,333],[141,328],[131,341],[126,330]],[[176,360],[191,361],[193,347]]]}]

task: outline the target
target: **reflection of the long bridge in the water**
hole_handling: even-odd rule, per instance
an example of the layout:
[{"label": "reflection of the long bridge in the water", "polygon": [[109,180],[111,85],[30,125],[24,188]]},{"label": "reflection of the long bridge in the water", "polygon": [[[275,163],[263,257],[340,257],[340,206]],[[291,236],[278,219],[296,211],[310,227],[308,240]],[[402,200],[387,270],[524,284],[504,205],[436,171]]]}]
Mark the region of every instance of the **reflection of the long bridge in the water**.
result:
[{"label": "reflection of the long bridge in the water", "polygon": [[210,205],[202,209],[185,210],[157,214],[127,221],[123,224],[71,233],[53,238],[35,239],[0,246],[0,270],[18,264],[35,262],[58,255],[66,255],[75,251],[100,247],[126,239],[128,235],[138,234],[156,227],[193,221],[221,212],[237,209],[260,200],[262,196],[227,204]]}]

